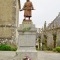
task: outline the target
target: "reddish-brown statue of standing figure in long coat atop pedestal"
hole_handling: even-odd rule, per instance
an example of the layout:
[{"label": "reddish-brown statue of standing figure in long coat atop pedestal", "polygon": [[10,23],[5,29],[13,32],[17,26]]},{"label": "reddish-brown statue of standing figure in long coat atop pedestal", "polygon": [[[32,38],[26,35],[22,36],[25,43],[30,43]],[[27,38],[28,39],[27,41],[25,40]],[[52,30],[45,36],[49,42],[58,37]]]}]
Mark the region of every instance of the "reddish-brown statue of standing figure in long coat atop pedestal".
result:
[{"label": "reddish-brown statue of standing figure in long coat atop pedestal", "polygon": [[20,11],[22,10],[24,10],[24,20],[26,20],[26,18],[29,18],[30,20],[30,18],[32,17],[31,11],[34,10],[32,2],[30,0],[26,0],[23,8]]}]

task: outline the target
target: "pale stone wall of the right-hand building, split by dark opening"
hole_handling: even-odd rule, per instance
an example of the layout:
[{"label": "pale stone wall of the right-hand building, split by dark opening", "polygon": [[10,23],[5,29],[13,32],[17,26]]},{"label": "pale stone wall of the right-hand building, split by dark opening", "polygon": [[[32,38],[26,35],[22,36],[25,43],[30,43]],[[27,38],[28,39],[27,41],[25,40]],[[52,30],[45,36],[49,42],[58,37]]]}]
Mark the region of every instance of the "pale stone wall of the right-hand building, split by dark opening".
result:
[{"label": "pale stone wall of the right-hand building, split by dark opening", "polygon": [[[60,46],[60,28],[59,29],[55,29],[54,31],[56,31],[56,46]],[[54,44],[54,40],[53,40],[53,32],[52,30],[46,31],[47,32],[47,46],[48,47],[53,47]]]}]

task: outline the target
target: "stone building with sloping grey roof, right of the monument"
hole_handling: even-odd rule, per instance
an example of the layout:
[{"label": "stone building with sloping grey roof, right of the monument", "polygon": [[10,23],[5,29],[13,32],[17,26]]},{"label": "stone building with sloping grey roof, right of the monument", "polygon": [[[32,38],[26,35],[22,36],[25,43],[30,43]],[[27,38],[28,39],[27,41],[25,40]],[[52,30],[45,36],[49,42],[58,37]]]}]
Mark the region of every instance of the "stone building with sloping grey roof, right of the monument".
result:
[{"label": "stone building with sloping grey roof, right of the monument", "polygon": [[43,30],[46,36],[47,47],[60,46],[60,13],[58,16]]}]

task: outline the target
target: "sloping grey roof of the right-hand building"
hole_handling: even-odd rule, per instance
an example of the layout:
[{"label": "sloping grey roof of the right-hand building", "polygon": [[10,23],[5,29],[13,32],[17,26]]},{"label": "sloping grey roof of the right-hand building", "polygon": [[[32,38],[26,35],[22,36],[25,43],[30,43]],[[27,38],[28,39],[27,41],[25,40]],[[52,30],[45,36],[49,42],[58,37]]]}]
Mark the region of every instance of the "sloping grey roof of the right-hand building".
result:
[{"label": "sloping grey roof of the right-hand building", "polygon": [[58,16],[48,25],[47,29],[60,28],[60,12]]}]

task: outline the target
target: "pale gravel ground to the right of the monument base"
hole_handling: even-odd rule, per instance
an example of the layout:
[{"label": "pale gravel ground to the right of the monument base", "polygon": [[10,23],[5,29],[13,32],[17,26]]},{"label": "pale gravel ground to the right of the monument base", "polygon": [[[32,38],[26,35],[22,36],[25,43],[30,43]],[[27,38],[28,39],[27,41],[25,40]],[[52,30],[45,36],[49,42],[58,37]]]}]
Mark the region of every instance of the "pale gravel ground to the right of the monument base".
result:
[{"label": "pale gravel ground to the right of the monument base", "polygon": [[39,51],[38,60],[60,60],[60,53]]}]

